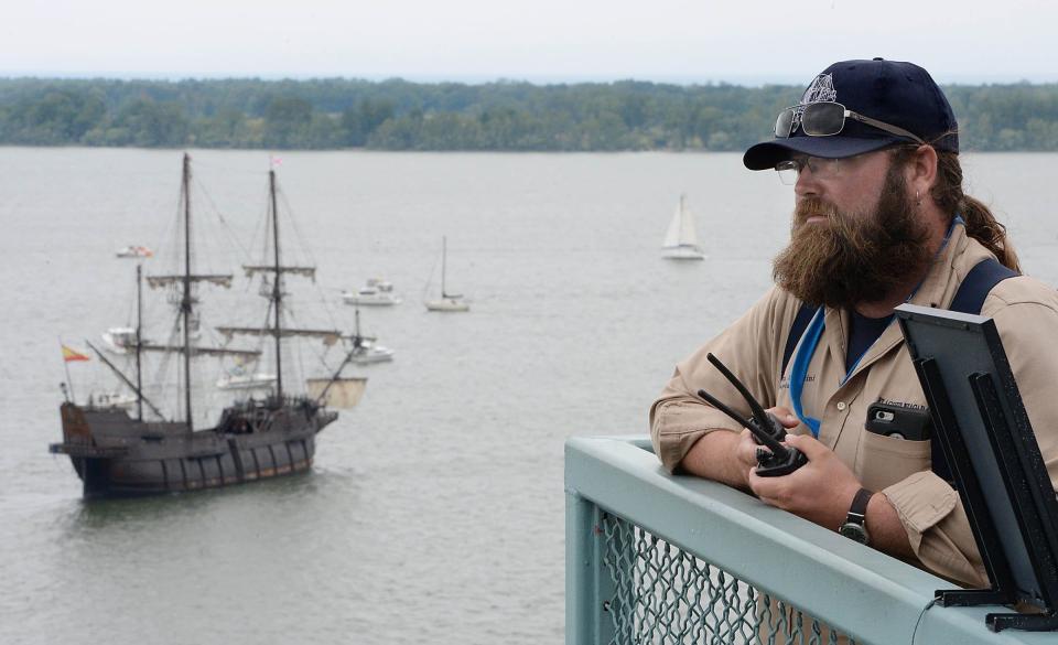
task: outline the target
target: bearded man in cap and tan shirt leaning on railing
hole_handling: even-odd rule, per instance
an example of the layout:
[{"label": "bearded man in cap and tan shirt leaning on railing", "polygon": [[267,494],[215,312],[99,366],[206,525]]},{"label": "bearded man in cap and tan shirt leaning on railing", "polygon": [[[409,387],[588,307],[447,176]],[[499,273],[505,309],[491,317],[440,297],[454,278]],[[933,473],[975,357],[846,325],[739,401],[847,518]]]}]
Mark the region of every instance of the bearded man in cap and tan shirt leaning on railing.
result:
[{"label": "bearded man in cap and tan shirt leaning on railing", "polygon": [[[846,61],[782,110],[775,135],[743,161],[795,180],[791,239],[775,259],[776,287],[677,366],[650,410],[655,449],[672,472],[749,491],[832,530],[852,523],[862,530],[843,535],[987,585],[959,495],[931,470],[930,442],[864,429],[872,404],[926,406],[893,310],[904,302],[951,307],[971,269],[989,258],[1018,269],[1004,227],[962,193],[951,107],[921,67]],[[1021,276],[987,286],[982,297],[980,313],[995,320],[1058,481],[1058,297]],[[789,358],[788,343],[796,347]],[[748,430],[695,394],[705,389],[749,416],[708,353],[771,406],[807,465],[780,477],[756,474]]]}]

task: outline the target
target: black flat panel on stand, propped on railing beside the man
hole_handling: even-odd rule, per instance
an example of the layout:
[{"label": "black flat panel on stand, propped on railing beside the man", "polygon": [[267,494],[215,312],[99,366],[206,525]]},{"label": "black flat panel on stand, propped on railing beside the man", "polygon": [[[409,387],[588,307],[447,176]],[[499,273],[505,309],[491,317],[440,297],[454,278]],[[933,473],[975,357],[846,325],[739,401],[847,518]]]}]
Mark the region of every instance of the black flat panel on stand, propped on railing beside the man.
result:
[{"label": "black flat panel on stand, propped on railing beside the man", "polygon": [[943,451],[992,583],[938,591],[938,604],[1029,604],[1040,613],[994,613],[986,623],[996,632],[1058,630],[1058,501],[995,323],[913,304],[896,312],[929,402],[933,448]]}]

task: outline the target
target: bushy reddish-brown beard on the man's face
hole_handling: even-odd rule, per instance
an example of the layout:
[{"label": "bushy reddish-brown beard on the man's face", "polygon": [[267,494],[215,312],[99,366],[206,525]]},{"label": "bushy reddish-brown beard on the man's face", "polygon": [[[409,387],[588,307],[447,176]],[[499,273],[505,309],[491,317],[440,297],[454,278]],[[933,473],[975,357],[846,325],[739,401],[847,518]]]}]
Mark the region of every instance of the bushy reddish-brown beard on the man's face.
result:
[{"label": "bushy reddish-brown beard on the man's face", "polygon": [[[817,215],[827,222],[809,224]],[[892,297],[930,258],[929,230],[894,165],[874,213],[841,213],[817,197],[799,202],[790,244],[775,258],[771,276],[802,302],[846,308]]]}]

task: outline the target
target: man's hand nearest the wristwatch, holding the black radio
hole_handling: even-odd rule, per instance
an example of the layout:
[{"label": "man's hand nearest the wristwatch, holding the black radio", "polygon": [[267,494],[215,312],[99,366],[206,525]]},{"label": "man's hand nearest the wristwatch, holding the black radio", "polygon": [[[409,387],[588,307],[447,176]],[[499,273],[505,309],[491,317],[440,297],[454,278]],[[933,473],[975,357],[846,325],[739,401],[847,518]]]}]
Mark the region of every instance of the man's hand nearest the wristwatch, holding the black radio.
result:
[{"label": "man's hand nearest the wristwatch, holding the black radio", "polygon": [[811,437],[790,434],[786,444],[803,452],[808,463],[781,477],[758,476],[754,467],[747,480],[749,490],[766,504],[836,530],[845,520],[860,481],[833,451]]}]

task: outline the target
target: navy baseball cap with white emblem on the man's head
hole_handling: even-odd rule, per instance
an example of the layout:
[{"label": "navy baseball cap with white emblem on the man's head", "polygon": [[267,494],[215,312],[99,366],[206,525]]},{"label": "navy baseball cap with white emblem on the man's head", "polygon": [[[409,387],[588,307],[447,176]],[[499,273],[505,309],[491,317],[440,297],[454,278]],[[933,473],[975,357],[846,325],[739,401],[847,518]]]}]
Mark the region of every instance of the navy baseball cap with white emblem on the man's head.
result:
[{"label": "navy baseball cap with white emblem on the man's head", "polygon": [[[840,103],[889,126],[914,133],[937,150],[959,152],[959,125],[951,105],[929,73],[898,61],[843,61],[823,69],[805,90],[800,106]],[[854,157],[914,140],[846,118],[838,135],[810,137],[794,128],[788,138],[757,143],[742,158],[749,170],[770,170],[795,154],[824,159]]]}]

